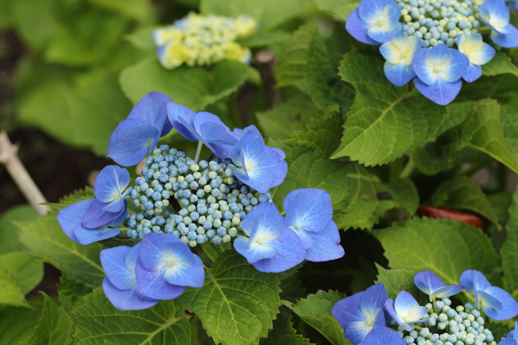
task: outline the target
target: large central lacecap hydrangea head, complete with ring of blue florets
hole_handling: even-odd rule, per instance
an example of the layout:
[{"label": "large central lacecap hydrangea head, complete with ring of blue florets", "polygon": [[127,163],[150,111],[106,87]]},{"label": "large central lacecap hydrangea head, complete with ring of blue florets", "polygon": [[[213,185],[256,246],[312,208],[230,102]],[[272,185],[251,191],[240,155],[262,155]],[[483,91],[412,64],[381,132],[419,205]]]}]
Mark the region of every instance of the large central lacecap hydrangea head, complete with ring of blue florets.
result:
[{"label": "large central lacecap hydrangea head, complete with ring of blue florets", "polygon": [[[173,127],[198,142],[194,159],[157,147]],[[203,145],[213,154],[206,160],[199,157]],[[125,168],[105,167],[94,183],[95,198],[63,208],[57,219],[82,245],[118,236],[119,227],[125,229],[120,236],[138,241],[100,253],[103,289],[116,308],[149,308],[176,298],[186,286],[203,286],[204,266],[191,248],[207,242],[235,238],[235,250],[263,272],[344,254],[326,191],[287,194],[285,217],[272,203],[268,191],[286,176],[285,154],[265,145],[254,125],[231,131],[214,114],[151,92],[119,123],[108,156],[122,166],[143,161],[140,176],[129,186]]]}]

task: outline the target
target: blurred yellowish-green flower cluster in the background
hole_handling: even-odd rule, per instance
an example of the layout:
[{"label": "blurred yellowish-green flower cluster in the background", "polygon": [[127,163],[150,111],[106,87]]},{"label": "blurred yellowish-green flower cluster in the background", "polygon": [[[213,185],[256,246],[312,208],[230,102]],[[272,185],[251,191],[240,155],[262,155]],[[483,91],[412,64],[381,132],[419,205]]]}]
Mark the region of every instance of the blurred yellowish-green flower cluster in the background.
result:
[{"label": "blurred yellowish-green flower cluster in the background", "polygon": [[160,63],[165,68],[210,65],[223,59],[250,62],[250,49],[236,39],[251,35],[257,24],[249,16],[229,18],[189,13],[172,25],[153,31]]}]

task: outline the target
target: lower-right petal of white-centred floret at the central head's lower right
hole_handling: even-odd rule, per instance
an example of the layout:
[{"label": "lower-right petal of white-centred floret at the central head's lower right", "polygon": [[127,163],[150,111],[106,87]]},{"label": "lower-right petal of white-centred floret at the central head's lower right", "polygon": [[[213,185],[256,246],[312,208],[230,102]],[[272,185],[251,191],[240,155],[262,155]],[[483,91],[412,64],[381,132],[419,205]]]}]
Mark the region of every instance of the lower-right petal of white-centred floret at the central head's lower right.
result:
[{"label": "lower-right petal of white-centred floret at the central head's lower right", "polygon": [[304,246],[298,236],[288,227],[284,227],[282,235],[269,245],[277,249],[277,254],[253,263],[257,270],[278,273],[304,261]]}]

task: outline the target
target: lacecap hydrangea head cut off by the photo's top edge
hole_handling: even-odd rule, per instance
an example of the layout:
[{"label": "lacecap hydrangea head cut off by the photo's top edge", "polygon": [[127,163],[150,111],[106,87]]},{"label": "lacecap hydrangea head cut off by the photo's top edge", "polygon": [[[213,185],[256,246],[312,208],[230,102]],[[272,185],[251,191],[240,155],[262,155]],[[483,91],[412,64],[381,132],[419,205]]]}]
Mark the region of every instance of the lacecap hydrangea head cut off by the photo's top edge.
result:
[{"label": "lacecap hydrangea head cut off by the photo's top edge", "polygon": [[494,44],[518,47],[503,0],[361,0],[346,22],[357,40],[379,45],[385,76],[416,89],[440,105],[457,96],[462,83],[482,75],[495,49],[479,33],[491,31]]}]

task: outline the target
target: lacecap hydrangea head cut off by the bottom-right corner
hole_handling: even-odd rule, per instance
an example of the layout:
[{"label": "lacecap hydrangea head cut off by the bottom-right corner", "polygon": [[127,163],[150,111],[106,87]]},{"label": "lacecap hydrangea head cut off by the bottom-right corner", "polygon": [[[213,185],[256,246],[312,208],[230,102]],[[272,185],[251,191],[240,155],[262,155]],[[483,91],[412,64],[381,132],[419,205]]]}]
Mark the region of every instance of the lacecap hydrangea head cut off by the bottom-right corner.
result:
[{"label": "lacecap hydrangea head cut off by the bottom-right corner", "polygon": [[[460,281],[462,285],[447,285],[424,270],[414,276],[415,285],[430,300],[424,306],[416,300],[419,296],[407,291],[389,298],[385,286],[377,283],[339,300],[332,313],[353,345],[496,345],[488,318],[512,319],[518,303],[479,271],[464,271]],[[474,294],[476,305],[453,308],[449,297],[463,290]],[[516,332],[518,324],[499,344],[516,344]]]}]

